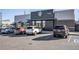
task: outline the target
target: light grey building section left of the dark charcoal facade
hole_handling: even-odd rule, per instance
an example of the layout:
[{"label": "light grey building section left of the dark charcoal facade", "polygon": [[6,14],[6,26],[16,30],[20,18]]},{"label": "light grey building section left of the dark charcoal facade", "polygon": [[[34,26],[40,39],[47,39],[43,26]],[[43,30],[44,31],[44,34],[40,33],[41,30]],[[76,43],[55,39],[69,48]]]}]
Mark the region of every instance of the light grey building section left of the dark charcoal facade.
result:
[{"label": "light grey building section left of the dark charcoal facade", "polygon": [[16,27],[21,27],[22,25],[26,27],[29,25],[28,21],[31,19],[30,14],[25,15],[16,15],[14,17],[14,23],[16,23]]}]

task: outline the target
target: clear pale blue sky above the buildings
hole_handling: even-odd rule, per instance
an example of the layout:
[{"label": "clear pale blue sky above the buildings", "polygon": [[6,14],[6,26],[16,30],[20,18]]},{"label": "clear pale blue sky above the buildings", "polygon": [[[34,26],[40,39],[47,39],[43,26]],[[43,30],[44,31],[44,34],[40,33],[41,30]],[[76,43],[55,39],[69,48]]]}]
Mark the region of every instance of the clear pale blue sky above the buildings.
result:
[{"label": "clear pale blue sky above the buildings", "polygon": [[[23,15],[24,11],[25,14],[30,14],[32,11],[39,11],[41,9],[0,9],[0,13],[2,13],[2,19],[6,20],[9,19],[11,22],[14,21],[14,16],[16,15]],[[75,9],[75,20],[79,20],[79,10]]]}]

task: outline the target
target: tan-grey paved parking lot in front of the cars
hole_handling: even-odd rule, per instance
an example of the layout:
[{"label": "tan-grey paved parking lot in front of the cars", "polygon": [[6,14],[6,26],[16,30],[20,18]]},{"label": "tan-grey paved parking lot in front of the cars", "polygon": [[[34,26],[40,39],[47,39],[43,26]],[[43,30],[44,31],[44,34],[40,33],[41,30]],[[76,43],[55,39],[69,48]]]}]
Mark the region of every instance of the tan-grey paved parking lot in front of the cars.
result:
[{"label": "tan-grey paved parking lot in front of the cars", "polygon": [[53,32],[42,34],[0,34],[0,50],[78,50],[79,32],[70,32],[67,39],[53,37]]}]

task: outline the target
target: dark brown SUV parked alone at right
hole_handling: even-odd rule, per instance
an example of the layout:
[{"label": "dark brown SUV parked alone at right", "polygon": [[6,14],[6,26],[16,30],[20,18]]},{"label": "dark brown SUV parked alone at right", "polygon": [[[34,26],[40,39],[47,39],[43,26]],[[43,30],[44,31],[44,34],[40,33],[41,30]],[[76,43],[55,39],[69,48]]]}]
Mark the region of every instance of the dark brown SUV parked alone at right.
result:
[{"label": "dark brown SUV parked alone at right", "polygon": [[56,37],[58,35],[67,38],[69,34],[69,29],[66,25],[58,25],[54,27],[53,36]]}]

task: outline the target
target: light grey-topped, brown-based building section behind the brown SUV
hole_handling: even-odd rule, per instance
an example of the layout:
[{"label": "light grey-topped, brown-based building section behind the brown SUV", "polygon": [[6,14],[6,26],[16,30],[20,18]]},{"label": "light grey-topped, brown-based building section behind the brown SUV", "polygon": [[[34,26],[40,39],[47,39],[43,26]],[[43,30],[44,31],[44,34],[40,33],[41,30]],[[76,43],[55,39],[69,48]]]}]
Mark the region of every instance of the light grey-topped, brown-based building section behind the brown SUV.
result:
[{"label": "light grey-topped, brown-based building section behind the brown SUV", "polygon": [[75,31],[75,14],[74,10],[55,11],[57,25],[67,25],[70,31]]}]

